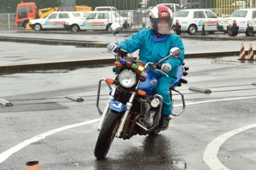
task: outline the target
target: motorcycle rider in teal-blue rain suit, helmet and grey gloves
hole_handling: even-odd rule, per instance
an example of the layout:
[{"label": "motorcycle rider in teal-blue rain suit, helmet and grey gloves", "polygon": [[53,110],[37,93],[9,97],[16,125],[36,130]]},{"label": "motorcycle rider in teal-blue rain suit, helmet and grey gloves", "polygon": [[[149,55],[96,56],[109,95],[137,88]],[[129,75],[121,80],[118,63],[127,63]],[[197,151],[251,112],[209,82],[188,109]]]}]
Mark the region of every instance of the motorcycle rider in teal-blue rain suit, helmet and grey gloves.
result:
[{"label": "motorcycle rider in teal-blue rain suit, helmet and grey gloves", "polygon": [[166,77],[161,72],[157,72],[159,80],[155,93],[163,97],[163,107],[159,130],[166,130],[169,126],[170,115],[172,114],[172,101],[168,93],[170,86],[177,79],[177,68],[184,60],[184,46],[182,40],[172,30],[173,13],[163,5],[157,5],[149,13],[150,26],[134,33],[120,43],[118,47],[115,43],[109,43],[108,50],[116,51],[121,48],[132,53],[140,49],[139,57],[144,63],[157,63],[168,56],[170,49],[178,47],[181,50],[179,58],[168,58],[161,63],[161,71],[169,75]]}]

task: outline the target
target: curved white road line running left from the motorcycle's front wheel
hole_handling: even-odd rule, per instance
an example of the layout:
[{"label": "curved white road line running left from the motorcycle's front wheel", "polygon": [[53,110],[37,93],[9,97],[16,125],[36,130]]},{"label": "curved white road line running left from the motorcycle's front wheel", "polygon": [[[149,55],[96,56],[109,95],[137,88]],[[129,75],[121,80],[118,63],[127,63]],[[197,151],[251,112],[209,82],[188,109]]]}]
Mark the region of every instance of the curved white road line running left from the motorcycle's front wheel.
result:
[{"label": "curved white road line running left from the motorcycle's front wheel", "polygon": [[52,134],[55,134],[57,132],[61,132],[63,130],[67,130],[68,128],[74,128],[74,127],[79,127],[79,126],[87,125],[87,124],[90,124],[90,123],[95,123],[97,121],[100,121],[100,119],[84,121],[82,123],[76,123],[76,124],[73,124],[73,125],[68,125],[66,127],[56,128],[56,129],[51,130],[49,132],[45,132],[44,134],[36,135],[35,137],[32,137],[32,138],[30,138],[30,139],[28,139],[26,141],[23,141],[22,143],[19,143],[16,146],[13,146],[12,148],[10,148],[9,150],[6,150],[3,153],[1,153],[0,154],[0,164],[4,160],[6,160],[6,158],[10,157],[13,153],[16,153],[17,151],[21,150],[22,148],[28,146],[31,143],[35,143],[36,141],[44,139],[48,135],[52,135]]}]

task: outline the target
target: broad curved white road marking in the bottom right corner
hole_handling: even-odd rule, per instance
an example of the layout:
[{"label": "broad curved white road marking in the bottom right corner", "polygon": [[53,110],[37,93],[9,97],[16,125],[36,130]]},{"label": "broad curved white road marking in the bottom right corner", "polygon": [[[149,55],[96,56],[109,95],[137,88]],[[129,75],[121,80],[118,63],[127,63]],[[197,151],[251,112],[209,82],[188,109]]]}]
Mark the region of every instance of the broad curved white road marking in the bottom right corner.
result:
[{"label": "broad curved white road marking in the bottom right corner", "polygon": [[211,168],[211,169],[226,169],[223,164],[221,164],[220,160],[217,158],[218,151],[220,146],[227,141],[228,138],[232,137],[233,135],[239,134],[244,130],[248,130],[250,128],[255,128],[256,124],[249,125],[247,127],[237,128],[236,130],[232,130],[231,132],[227,132],[226,134],[220,135],[216,137],[211,143],[207,145],[207,148],[204,151],[204,162]]}]

